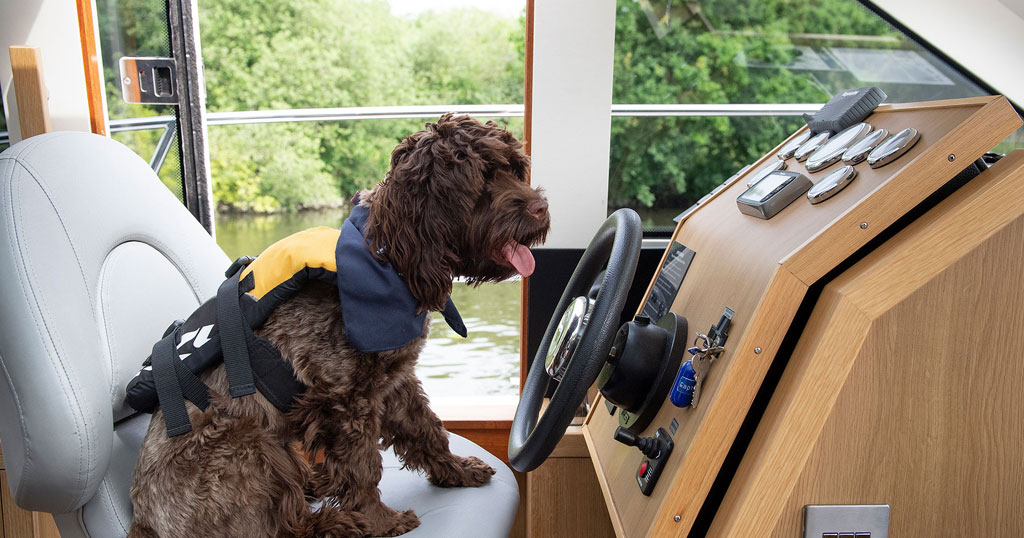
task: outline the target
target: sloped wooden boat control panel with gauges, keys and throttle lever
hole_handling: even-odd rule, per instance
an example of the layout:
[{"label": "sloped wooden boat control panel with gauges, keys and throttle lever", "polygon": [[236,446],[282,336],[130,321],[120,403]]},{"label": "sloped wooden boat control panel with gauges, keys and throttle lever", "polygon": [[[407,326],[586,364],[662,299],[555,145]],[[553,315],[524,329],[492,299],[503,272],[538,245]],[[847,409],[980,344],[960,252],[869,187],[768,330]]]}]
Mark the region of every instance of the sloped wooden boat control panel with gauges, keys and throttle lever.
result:
[{"label": "sloped wooden boat control panel with gauges, keys and throttle lever", "polygon": [[687,536],[808,290],[1020,125],[884,98],[843,92],[680,215],[584,424],[617,536]]}]

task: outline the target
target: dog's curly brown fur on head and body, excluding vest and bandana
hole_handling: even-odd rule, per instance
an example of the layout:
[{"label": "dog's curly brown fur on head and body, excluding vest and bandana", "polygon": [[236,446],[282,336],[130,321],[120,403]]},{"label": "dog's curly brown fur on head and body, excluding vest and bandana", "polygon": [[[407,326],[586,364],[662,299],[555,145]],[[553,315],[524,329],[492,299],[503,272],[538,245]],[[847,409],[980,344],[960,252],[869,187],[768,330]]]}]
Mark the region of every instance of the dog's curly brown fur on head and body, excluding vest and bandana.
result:
[{"label": "dog's curly brown fur on head and body, excluding vest and bandana", "polygon": [[[360,203],[368,236],[423,309],[440,309],[452,279],[511,277],[512,242],[543,241],[547,202],[527,183],[521,146],[494,123],[445,115],[408,136],[391,170]],[[381,249],[381,250],[377,250]],[[415,365],[429,324],[408,345],[364,354],[345,337],[337,289],[307,284],[257,332],[306,390],[282,414],[259,392],[231,399],[222,366],[204,372],[211,405],[188,404],[193,431],[168,438],[154,414],[131,489],[130,538],[396,536],[419,525],[384,505],[380,450],[440,487],[480,486],[494,474],[449,450]],[[323,454],[314,467],[309,454]],[[322,505],[313,510],[311,500]]]}]

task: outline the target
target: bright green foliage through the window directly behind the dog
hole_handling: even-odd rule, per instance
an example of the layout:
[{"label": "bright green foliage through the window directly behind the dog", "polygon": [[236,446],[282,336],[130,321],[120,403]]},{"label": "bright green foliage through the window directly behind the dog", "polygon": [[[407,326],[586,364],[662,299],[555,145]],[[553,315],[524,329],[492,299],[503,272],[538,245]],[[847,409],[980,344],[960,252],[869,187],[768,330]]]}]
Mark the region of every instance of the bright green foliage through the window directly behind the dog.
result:
[{"label": "bright green foliage through the window directly behind the dog", "polygon": [[[381,0],[206,0],[210,111],[521,102],[520,22],[393,16]],[[329,207],[384,176],[423,121],[210,129],[214,197],[245,211]]]}]

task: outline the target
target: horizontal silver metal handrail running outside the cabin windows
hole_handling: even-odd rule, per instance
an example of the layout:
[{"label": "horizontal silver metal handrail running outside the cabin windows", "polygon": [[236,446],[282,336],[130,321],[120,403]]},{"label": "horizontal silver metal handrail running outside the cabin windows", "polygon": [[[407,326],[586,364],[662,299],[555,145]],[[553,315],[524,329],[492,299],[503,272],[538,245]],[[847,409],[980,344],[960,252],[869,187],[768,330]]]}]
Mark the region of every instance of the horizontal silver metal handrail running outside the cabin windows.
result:
[{"label": "horizontal silver metal handrail running outside the cabin windows", "polygon": [[[800,116],[811,114],[820,105],[612,105],[611,116],[622,117],[708,117],[708,116]],[[436,118],[454,112],[485,118],[520,118],[522,105],[431,105],[423,107],[343,107],[333,109],[286,109],[276,111],[211,112],[208,125],[250,123],[292,123],[310,121],[402,120]],[[174,116],[148,116],[110,121],[111,132],[163,129]],[[0,143],[8,143],[6,131],[0,131]]]}]

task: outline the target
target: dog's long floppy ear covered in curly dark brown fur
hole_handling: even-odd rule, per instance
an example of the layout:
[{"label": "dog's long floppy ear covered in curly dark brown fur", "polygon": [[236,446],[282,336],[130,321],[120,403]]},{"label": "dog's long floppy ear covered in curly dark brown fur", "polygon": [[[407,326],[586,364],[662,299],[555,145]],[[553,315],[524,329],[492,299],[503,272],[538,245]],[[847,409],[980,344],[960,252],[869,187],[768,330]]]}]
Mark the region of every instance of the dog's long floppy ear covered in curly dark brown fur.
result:
[{"label": "dog's long floppy ear covered in curly dark brown fur", "polygon": [[421,312],[443,309],[458,263],[454,245],[466,233],[482,189],[478,166],[467,162],[444,132],[450,124],[445,118],[427,124],[395,148],[391,170],[374,190],[367,222],[375,256],[402,275]]}]

